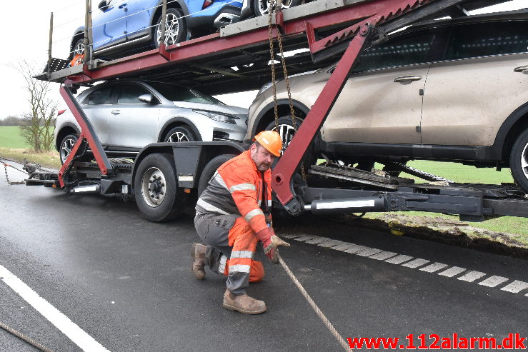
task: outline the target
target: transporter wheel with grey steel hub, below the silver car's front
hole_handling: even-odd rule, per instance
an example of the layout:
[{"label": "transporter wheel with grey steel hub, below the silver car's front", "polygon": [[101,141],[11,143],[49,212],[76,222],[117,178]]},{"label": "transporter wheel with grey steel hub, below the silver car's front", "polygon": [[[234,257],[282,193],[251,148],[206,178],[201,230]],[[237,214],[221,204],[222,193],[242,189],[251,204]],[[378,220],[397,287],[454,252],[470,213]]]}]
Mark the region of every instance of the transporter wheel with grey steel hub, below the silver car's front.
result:
[{"label": "transporter wheel with grey steel hub, below the silver car's front", "polygon": [[184,210],[186,194],[176,182],[176,167],[169,154],[150,154],[134,176],[139,211],[150,221],[173,220]]}]

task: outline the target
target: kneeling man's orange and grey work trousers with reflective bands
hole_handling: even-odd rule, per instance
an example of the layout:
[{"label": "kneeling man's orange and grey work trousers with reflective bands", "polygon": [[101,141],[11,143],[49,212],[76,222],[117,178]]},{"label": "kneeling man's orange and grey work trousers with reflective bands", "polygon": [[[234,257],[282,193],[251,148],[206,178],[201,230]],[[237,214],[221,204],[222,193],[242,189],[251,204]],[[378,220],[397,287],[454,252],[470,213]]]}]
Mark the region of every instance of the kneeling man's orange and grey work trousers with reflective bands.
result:
[{"label": "kneeling man's orange and grey work trousers with reflective bands", "polygon": [[207,245],[206,265],[214,273],[227,276],[229,291],[244,294],[249,282],[264,279],[264,266],[254,259],[259,240],[244,218],[197,213],[194,225]]}]

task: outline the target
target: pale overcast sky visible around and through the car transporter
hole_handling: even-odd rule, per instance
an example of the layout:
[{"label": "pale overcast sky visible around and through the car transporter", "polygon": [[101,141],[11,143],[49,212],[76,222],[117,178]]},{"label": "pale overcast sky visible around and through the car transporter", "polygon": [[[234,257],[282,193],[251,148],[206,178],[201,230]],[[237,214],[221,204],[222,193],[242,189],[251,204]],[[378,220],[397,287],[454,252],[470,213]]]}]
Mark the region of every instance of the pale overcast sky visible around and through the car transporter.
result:
[{"label": "pale overcast sky visible around and through the car transporter", "polygon": [[[118,1],[118,0],[115,0]],[[0,119],[9,115],[21,115],[28,111],[24,80],[10,66],[21,60],[32,61],[39,69],[44,69],[47,60],[49,41],[49,16],[54,12],[54,57],[65,59],[68,56],[69,42],[74,30],[84,24],[85,0],[23,0],[3,1],[10,4],[0,11]],[[98,0],[92,0],[93,6]],[[494,6],[492,11],[507,11],[528,7],[528,0],[512,0]],[[59,84],[52,84],[54,97],[59,98]],[[254,94],[240,96],[228,94],[221,100],[226,104],[248,107]],[[62,103],[64,104],[64,103]]]}]

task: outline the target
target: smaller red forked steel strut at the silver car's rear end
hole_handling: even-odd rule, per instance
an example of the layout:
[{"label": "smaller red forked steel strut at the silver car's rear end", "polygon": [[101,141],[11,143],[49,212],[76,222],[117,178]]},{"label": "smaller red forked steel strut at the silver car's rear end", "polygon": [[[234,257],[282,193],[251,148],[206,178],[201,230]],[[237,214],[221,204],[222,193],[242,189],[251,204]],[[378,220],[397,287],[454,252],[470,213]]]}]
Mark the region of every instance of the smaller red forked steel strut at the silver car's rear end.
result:
[{"label": "smaller red forked steel strut at the silver car's rear end", "polygon": [[64,164],[59,171],[59,183],[61,188],[63,188],[65,185],[64,175],[71,169],[71,161],[74,160],[74,157],[79,151],[81,144],[84,144],[85,140],[88,143],[91,152],[94,154],[97,165],[101,170],[101,175],[111,174],[113,172],[112,166],[108,158],[106,158],[106,154],[104,154],[103,146],[101,146],[99,139],[95,137],[96,134],[94,133],[94,127],[91,126],[89,119],[86,117],[86,114],[84,114],[84,111],[81,109],[81,106],[79,106],[79,103],[76,101],[74,95],[71,94],[71,91],[65,86],[61,86],[60,91],[62,98],[64,101],[66,101],[66,105],[70,109],[71,113],[74,114],[79,126],[81,126],[81,134],[79,135],[79,139],[77,139],[74,148],[70,151],[70,154],[66,158],[66,161],[64,161]]}]

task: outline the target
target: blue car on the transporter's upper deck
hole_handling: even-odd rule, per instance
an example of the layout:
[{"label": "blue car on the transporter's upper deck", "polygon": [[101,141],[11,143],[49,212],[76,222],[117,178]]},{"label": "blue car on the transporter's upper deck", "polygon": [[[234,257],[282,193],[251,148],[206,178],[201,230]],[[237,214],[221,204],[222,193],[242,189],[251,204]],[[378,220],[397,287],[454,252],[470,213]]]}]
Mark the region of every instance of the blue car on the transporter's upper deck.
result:
[{"label": "blue car on the transporter's upper deck", "polygon": [[[94,56],[116,57],[161,42],[161,0],[102,0],[92,18]],[[165,44],[211,34],[239,21],[241,0],[167,0]],[[84,26],[74,32],[70,58],[84,52]]]}]

